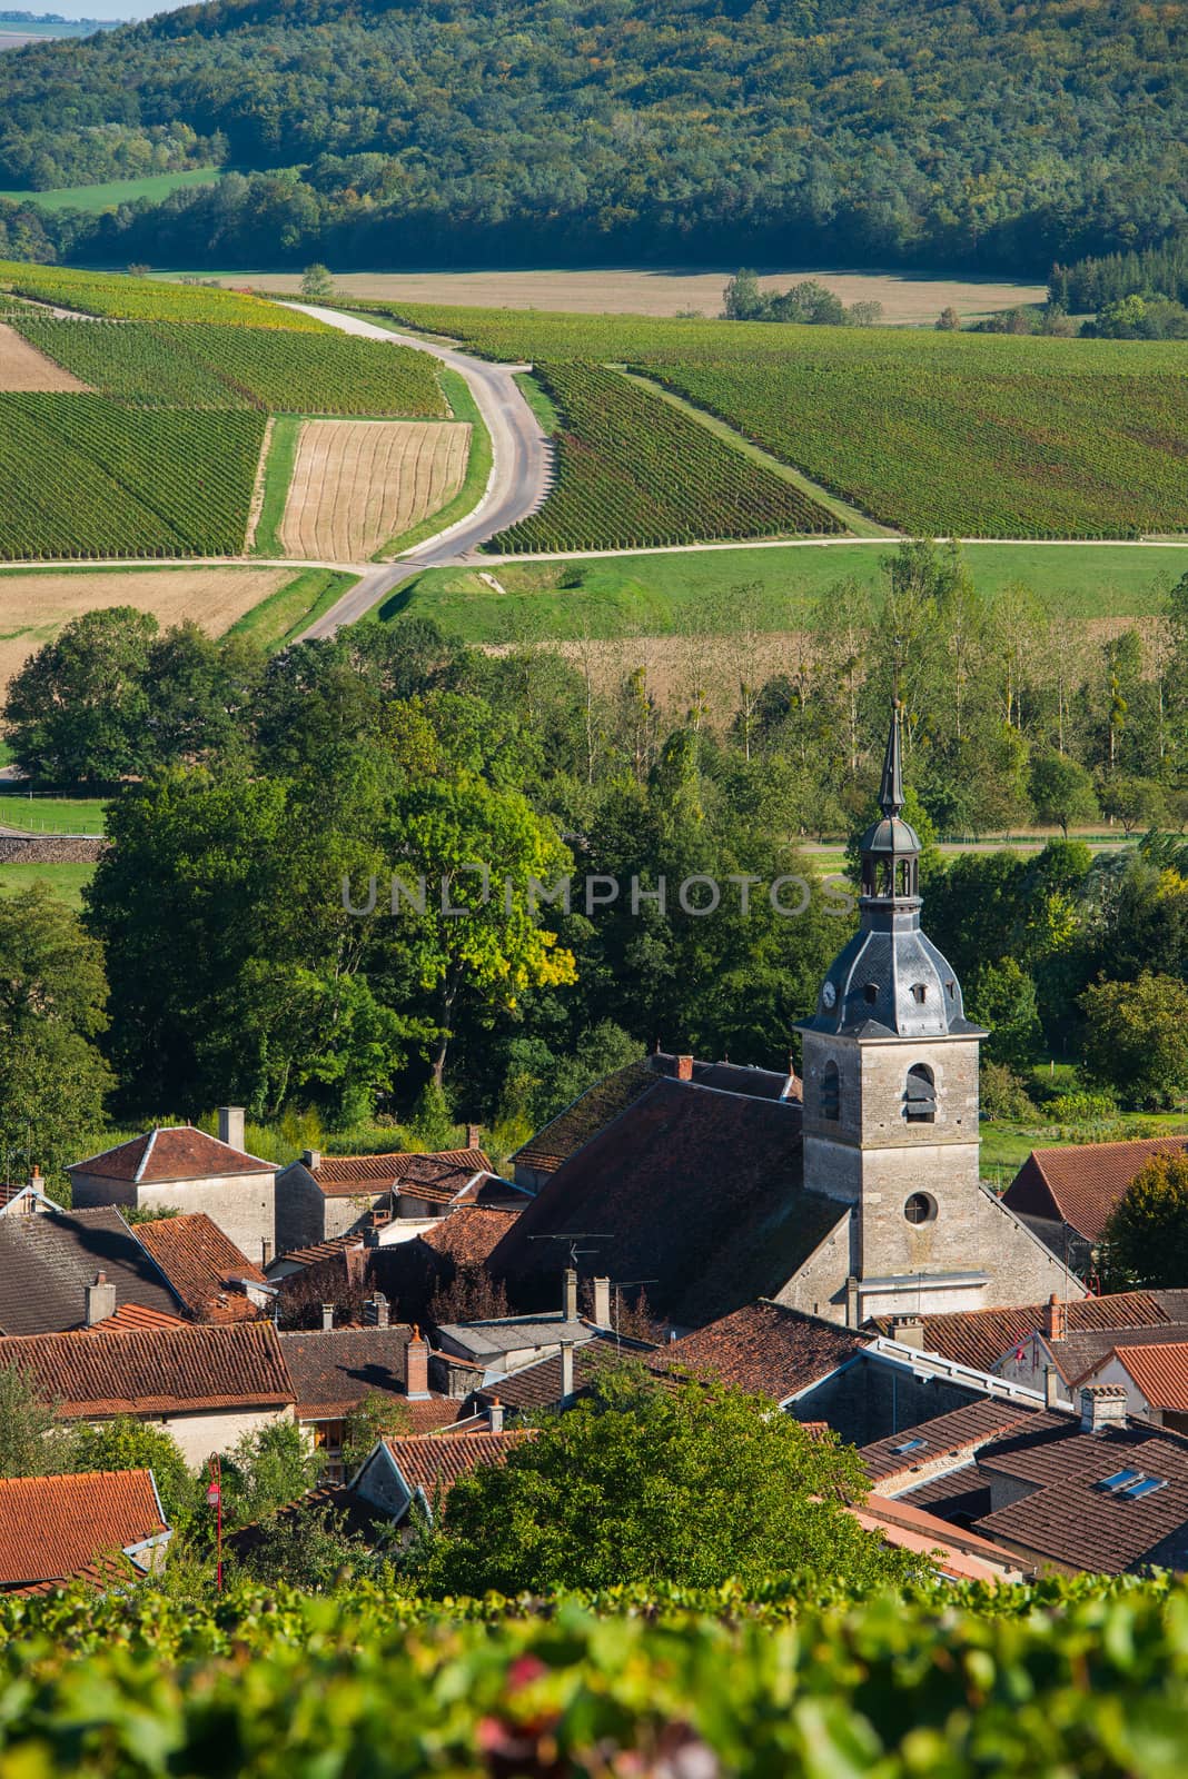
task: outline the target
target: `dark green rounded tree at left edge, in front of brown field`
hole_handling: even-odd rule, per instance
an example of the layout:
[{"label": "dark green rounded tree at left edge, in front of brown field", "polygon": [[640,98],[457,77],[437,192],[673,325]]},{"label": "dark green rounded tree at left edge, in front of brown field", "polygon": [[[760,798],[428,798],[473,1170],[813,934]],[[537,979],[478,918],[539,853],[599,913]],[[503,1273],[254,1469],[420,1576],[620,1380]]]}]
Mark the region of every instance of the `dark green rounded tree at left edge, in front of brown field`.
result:
[{"label": "dark green rounded tree at left edge, in front of brown field", "polygon": [[157,619],[130,605],[84,612],[9,681],[12,758],[30,777],[82,785],[142,772],[153,758],[146,667]]}]

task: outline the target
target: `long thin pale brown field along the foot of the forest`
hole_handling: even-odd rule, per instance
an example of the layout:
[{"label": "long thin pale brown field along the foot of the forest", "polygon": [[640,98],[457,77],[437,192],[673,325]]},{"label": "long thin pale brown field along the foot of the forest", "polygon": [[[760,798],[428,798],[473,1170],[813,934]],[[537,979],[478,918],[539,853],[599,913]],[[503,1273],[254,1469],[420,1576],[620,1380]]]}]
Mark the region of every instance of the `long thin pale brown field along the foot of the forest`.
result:
[{"label": "long thin pale brown field along the foot of the forest", "polygon": [[[678,315],[722,311],[729,272],[347,272],[334,279],[347,297],[389,302],[462,302],[489,310],[567,310],[574,315]],[[765,290],[786,290],[816,278],[843,302],[882,302],[884,320],[930,326],[941,310],[989,315],[1017,302],[1042,302],[1044,285],[1007,279],[912,278],[911,272],[765,272]],[[297,292],[301,278],[288,272],[237,272],[226,285],[253,283]]]}]

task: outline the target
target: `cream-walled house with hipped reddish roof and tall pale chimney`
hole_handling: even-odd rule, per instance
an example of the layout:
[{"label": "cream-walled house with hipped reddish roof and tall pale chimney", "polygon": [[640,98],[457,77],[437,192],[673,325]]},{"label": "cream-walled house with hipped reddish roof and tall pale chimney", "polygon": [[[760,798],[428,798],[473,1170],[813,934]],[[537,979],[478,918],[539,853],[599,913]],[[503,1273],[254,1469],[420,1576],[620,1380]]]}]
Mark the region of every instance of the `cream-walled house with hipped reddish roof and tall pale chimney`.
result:
[{"label": "cream-walled house with hipped reddish roof and tall pale chimney", "polygon": [[276,1252],[276,1165],[244,1151],[242,1107],[219,1108],[219,1137],[192,1124],[142,1137],[66,1169],[75,1206],[206,1211],[253,1263]]}]

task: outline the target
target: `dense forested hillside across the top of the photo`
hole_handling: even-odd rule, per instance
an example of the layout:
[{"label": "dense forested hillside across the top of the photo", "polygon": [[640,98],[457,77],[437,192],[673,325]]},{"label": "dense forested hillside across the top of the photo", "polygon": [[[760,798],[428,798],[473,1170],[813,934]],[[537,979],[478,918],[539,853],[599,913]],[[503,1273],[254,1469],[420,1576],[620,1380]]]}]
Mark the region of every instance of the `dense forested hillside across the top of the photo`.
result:
[{"label": "dense forested hillside across the top of the photo", "polygon": [[1183,52],[1140,0],[212,0],[5,55],[0,189],[237,171],[0,253],[1042,274],[1188,215]]}]

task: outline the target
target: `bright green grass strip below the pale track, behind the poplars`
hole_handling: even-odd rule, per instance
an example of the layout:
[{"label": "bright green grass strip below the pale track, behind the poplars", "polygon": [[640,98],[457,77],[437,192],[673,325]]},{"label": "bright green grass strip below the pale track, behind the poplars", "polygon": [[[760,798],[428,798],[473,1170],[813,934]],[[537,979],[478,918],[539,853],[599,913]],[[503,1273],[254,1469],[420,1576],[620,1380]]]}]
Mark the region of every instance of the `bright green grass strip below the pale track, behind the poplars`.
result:
[{"label": "bright green grass strip below the pale track, behind the poplars", "polygon": [[[756,614],[772,632],[804,630],[827,587],[854,578],[882,585],[893,544],[831,543],[774,548],[656,551],[571,562],[493,562],[507,591],[471,569],[427,569],[381,607],[434,617],[468,642],[523,637],[672,635],[692,623],[729,628],[729,592],[756,587]],[[1158,614],[1188,573],[1184,546],[992,544],[966,546],[975,585],[987,594],[1031,587],[1064,619],[1112,621]]]}]

